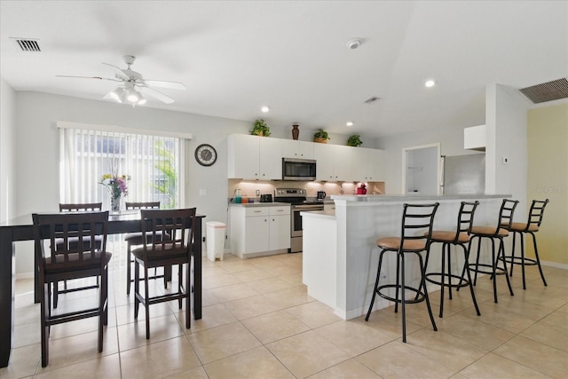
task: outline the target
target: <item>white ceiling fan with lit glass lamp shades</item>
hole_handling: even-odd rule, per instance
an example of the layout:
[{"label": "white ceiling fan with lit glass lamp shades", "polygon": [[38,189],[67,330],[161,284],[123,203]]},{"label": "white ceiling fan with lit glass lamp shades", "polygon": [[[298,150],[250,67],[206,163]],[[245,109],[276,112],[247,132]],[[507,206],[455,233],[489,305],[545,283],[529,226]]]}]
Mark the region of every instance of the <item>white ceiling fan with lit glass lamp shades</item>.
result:
[{"label": "white ceiling fan with lit glass lamp shades", "polygon": [[171,90],[185,91],[184,83],[167,82],[162,80],[148,80],[144,79],[144,77],[140,73],[132,71],[130,69],[130,66],[134,64],[134,60],[136,59],[136,57],[132,55],[124,55],[122,59],[124,59],[124,63],[126,63],[126,65],[128,66],[127,68],[116,67],[114,65],[111,65],[110,63],[103,62],[104,65],[114,68],[115,70],[114,78],[106,78],[100,76],[72,76],[72,75],[57,75],[57,76],[110,80],[113,82],[119,82],[121,84],[118,87],[116,87],[113,91],[108,92],[105,95],[104,99],[114,99],[119,103],[130,104],[132,107],[146,104],[146,99],[144,99],[142,93],[151,96],[154,99],[161,100],[166,104],[171,104],[174,102],[174,99],[171,99],[170,96],[164,95],[162,92],[156,91],[152,87],[162,87]]}]

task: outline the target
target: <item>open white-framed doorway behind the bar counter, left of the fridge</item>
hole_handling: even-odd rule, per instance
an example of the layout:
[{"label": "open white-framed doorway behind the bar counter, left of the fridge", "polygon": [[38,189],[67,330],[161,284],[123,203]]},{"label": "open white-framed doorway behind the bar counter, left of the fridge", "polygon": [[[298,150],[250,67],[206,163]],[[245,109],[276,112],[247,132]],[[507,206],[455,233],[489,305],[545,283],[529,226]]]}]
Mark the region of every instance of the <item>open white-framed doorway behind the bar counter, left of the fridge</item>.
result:
[{"label": "open white-framed doorway behind the bar counter, left of the fridge", "polygon": [[402,149],[402,193],[440,193],[440,144]]}]

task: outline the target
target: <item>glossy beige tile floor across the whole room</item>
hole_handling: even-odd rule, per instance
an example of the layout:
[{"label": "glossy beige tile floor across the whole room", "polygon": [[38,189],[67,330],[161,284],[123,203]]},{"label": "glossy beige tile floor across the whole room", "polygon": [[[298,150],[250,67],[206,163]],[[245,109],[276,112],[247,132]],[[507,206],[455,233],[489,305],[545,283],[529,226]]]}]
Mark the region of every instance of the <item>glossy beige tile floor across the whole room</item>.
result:
[{"label": "glossy beige tile floor across the whole room", "polygon": [[[144,308],[134,320],[123,269],[111,272],[105,346],[97,352],[96,319],[52,327],[50,365],[40,364],[38,305],[31,280],[16,283],[10,365],[0,377],[37,378],[561,378],[568,375],[568,271],[545,267],[548,287],[529,268],[528,288],[513,278],[515,296],[499,279],[480,278],[477,317],[468,291],[447,301],[438,332],[425,305],[407,307],[407,343],[393,307],[344,321],[306,294],[302,255],[203,262],[203,318],[183,327],[177,303]],[[155,282],[153,290],[161,291]],[[93,300],[88,291],[62,296],[60,306]],[[439,292],[430,294],[435,314]]]}]

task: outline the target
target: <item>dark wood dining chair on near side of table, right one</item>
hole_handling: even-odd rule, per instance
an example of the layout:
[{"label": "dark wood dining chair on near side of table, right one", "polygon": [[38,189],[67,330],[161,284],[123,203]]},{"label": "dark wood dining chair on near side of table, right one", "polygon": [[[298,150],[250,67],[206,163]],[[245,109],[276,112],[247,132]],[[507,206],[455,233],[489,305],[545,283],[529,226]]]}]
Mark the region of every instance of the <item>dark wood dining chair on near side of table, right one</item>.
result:
[{"label": "dark wood dining chair on near side of table, right one", "polygon": [[[185,328],[191,328],[190,274],[195,210],[195,208],[140,210],[142,233],[151,233],[152,237],[150,243],[132,250],[134,257],[134,318],[138,319],[138,309],[140,304],[143,304],[146,309],[146,339],[150,339],[150,304],[177,300],[179,309],[181,309],[182,300],[185,299]],[[159,233],[171,233],[170,240],[160,239]],[[151,297],[148,285],[148,269],[172,265],[178,266],[177,291]],[[140,279],[140,270],[144,271],[143,279]],[[141,280],[144,280],[144,293],[140,291]]]}]

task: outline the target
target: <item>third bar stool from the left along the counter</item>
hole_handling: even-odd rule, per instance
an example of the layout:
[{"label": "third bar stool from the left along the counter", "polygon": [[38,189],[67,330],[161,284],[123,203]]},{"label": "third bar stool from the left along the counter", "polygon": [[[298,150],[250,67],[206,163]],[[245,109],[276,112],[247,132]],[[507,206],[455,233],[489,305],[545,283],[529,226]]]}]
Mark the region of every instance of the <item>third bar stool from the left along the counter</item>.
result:
[{"label": "third bar stool from the left along the counter", "polygon": [[[509,293],[514,296],[513,288],[511,287],[511,282],[509,280],[509,273],[507,272],[507,266],[503,263],[503,267],[499,267],[497,264],[501,260],[499,257],[505,255],[505,245],[503,239],[509,235],[508,228],[513,221],[513,213],[517,208],[517,200],[507,200],[503,199],[501,202],[501,209],[499,210],[499,220],[496,227],[493,226],[473,226],[471,228],[471,238],[469,239],[469,251],[471,251],[471,244],[474,239],[477,238],[477,258],[475,264],[467,265],[469,271],[475,272],[473,279],[473,285],[477,284],[477,273],[486,273],[491,275],[493,280],[493,301],[497,303],[497,278],[496,275],[505,275],[507,279],[507,286],[509,287]],[[491,265],[480,264],[479,257],[481,256],[481,241],[482,239],[489,239],[491,241]],[[495,240],[499,241],[499,249],[497,251],[497,256],[495,256]],[[485,271],[484,271],[485,267]],[[489,268],[491,271],[487,271]],[[463,268],[461,272],[461,279],[465,274],[466,267]]]}]

